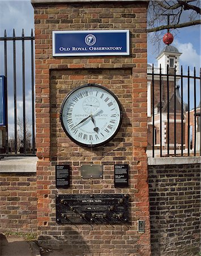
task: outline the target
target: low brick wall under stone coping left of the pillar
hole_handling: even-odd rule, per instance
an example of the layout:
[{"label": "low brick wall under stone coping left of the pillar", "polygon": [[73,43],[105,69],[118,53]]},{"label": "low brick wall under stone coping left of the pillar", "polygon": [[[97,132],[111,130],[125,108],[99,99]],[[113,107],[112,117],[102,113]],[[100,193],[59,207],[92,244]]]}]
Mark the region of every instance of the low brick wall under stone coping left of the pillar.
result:
[{"label": "low brick wall under stone coping left of the pillar", "polygon": [[0,232],[36,232],[36,174],[0,174]]}]

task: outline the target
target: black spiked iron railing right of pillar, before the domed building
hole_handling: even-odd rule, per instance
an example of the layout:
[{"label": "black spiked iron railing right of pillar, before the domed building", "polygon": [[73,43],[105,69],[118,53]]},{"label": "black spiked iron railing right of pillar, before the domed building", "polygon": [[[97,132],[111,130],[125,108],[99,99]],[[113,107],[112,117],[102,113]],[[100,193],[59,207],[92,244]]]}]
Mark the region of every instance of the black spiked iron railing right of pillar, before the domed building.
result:
[{"label": "black spiked iron railing right of pillar, before the domed building", "polygon": [[[151,115],[148,117],[148,156],[201,155],[201,69],[190,75],[177,68],[148,67]],[[149,111],[148,111],[149,112]],[[149,139],[151,138],[151,139]]]}]

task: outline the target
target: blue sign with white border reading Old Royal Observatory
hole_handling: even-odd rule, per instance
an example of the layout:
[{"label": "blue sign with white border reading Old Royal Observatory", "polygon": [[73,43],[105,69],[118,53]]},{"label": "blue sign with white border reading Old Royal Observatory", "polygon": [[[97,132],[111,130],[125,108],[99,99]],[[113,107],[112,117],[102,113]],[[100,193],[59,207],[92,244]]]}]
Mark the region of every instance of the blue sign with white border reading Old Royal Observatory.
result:
[{"label": "blue sign with white border reading Old Royal Observatory", "polygon": [[53,31],[53,56],[129,54],[129,30]]}]

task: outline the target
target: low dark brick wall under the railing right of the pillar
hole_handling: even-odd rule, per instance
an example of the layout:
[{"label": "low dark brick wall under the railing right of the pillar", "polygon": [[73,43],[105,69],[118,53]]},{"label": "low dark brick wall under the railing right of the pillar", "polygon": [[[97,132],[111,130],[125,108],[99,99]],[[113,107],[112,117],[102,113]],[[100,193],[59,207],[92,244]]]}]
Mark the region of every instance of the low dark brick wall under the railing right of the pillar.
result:
[{"label": "low dark brick wall under the railing right of the pillar", "polygon": [[200,164],[149,166],[149,200],[152,255],[198,255]]}]

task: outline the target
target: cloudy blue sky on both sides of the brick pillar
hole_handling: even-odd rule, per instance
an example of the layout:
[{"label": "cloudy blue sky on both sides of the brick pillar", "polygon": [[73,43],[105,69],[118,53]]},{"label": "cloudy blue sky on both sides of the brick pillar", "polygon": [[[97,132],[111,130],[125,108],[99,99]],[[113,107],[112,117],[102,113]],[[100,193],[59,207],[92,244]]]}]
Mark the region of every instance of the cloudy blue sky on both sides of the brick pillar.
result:
[{"label": "cloudy blue sky on both sides of the brick pillar", "polygon": [[[33,18],[33,7],[31,5],[31,0],[0,0],[0,36],[4,35],[4,31],[6,29],[7,36],[12,36],[13,29],[15,29],[15,35],[22,35],[22,28],[24,28],[25,36],[31,35],[31,30],[34,31],[34,18]],[[165,34],[166,31],[164,31]],[[187,66],[191,67],[191,74],[193,72],[192,67],[196,67],[197,76],[199,76],[199,68],[200,68],[200,26],[191,26],[186,28],[180,28],[177,32],[177,35],[174,37],[173,46],[177,47],[179,52],[182,52],[180,57],[180,64],[183,65],[183,70],[187,71]],[[17,46],[18,47],[18,46]],[[165,47],[164,43],[160,44],[160,49],[156,48],[151,42],[148,40],[147,45],[148,51],[148,63],[154,63],[157,65],[156,56],[159,55],[159,52],[162,48]],[[0,47],[0,54],[3,56],[3,49]],[[11,59],[11,56],[8,54],[8,59]],[[26,56],[27,63],[30,60],[30,56]],[[2,69],[2,60],[0,59],[0,75],[3,75]],[[22,66],[22,60],[19,60],[19,66]],[[8,67],[10,72],[12,72],[12,65]],[[8,70],[9,72],[9,70]],[[17,81],[22,80],[22,75],[20,72],[17,72]],[[11,77],[12,80],[12,77]],[[26,84],[31,84],[29,73],[25,74]],[[14,106],[12,104],[12,89],[8,91],[8,110],[10,111],[10,123],[13,123],[13,109]],[[19,108],[22,109],[22,89],[18,89],[18,105]],[[27,112],[31,111],[31,87],[28,86],[26,88],[26,103]],[[20,111],[20,110],[19,110]]]}]

